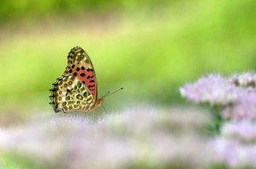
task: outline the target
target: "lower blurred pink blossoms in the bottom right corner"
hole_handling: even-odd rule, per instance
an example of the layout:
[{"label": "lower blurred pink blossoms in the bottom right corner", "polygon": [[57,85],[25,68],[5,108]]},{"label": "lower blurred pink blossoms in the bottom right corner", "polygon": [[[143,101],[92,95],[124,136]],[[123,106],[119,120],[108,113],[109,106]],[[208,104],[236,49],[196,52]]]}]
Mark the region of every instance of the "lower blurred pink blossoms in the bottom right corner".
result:
[{"label": "lower blurred pink blossoms in the bottom right corner", "polygon": [[256,167],[256,123],[230,121],[224,123],[221,135],[213,141],[216,155],[232,168]]}]

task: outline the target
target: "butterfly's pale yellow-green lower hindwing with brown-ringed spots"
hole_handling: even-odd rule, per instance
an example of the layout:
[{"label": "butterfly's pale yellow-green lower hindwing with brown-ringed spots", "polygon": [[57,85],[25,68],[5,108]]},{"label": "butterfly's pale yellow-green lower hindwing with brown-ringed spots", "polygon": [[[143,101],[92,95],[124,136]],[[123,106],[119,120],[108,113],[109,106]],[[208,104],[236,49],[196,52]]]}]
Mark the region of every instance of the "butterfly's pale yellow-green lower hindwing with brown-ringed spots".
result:
[{"label": "butterfly's pale yellow-green lower hindwing with brown-ringed spots", "polygon": [[76,76],[61,76],[50,89],[51,102],[55,112],[90,111],[94,99],[87,87]]}]

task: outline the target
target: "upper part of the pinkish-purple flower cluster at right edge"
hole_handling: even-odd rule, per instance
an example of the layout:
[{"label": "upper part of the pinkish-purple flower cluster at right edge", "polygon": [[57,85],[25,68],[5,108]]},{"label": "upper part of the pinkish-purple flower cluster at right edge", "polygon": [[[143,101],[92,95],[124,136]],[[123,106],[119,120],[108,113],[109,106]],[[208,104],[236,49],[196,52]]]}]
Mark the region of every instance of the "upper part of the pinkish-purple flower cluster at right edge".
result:
[{"label": "upper part of the pinkish-purple flower cluster at right edge", "polygon": [[224,77],[216,74],[201,77],[180,88],[183,97],[196,104],[222,107],[224,119],[256,119],[256,74],[245,72]]}]

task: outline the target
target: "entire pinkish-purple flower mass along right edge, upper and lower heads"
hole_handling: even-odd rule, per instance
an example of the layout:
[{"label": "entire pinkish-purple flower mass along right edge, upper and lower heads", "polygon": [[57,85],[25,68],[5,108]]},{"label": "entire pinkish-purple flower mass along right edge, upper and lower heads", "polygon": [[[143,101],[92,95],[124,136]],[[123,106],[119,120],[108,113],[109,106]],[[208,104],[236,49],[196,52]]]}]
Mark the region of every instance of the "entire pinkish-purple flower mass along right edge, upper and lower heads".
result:
[{"label": "entire pinkish-purple flower mass along right edge, upper and lower heads", "polygon": [[256,74],[208,75],[180,88],[196,104],[218,106],[220,134],[212,141],[218,159],[229,168],[256,167]]}]

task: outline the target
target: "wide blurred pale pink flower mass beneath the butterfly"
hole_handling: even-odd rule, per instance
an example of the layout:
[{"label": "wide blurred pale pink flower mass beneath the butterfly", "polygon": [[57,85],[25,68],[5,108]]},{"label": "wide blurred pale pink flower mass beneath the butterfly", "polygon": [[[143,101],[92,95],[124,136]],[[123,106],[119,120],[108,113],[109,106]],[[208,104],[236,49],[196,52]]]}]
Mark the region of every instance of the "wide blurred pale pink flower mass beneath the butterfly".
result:
[{"label": "wide blurred pale pink flower mass beneath the butterfly", "polygon": [[55,168],[199,168],[214,162],[210,138],[200,132],[208,121],[195,109],[139,107],[97,121],[52,115],[3,129],[0,150]]}]

